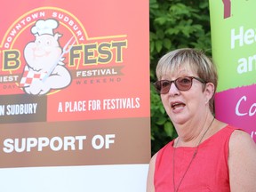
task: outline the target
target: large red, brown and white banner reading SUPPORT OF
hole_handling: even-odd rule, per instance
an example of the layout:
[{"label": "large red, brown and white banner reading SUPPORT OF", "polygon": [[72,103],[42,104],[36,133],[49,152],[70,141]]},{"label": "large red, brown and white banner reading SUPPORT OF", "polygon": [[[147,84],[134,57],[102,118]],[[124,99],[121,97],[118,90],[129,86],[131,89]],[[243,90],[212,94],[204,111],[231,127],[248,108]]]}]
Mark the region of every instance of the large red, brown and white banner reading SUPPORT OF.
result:
[{"label": "large red, brown and white banner reading SUPPORT OF", "polygon": [[0,190],[145,190],[148,1],[0,9]]}]

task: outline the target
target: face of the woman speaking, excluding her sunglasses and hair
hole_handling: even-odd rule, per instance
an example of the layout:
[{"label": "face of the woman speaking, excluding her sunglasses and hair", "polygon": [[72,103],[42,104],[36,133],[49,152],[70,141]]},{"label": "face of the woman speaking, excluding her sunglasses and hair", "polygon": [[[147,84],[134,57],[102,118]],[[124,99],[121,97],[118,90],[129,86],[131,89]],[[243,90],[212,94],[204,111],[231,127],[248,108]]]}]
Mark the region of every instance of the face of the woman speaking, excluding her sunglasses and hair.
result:
[{"label": "face of the woman speaking, excluding her sunglasses and hair", "polygon": [[[178,77],[197,76],[188,65],[182,65],[177,73],[171,76],[163,76],[161,80],[173,81]],[[173,124],[184,124],[189,119],[200,118],[206,113],[206,94],[203,92],[202,83],[196,79],[192,80],[192,86],[188,91],[180,91],[174,83],[171,84],[169,92],[161,94],[161,99],[168,116]]]}]

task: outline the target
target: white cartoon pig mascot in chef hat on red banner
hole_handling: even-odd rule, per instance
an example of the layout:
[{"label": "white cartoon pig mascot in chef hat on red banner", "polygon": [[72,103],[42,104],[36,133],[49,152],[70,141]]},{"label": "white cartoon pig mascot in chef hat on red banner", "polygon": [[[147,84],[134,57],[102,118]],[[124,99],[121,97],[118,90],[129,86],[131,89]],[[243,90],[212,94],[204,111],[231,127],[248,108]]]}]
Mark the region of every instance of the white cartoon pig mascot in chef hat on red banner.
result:
[{"label": "white cartoon pig mascot in chef hat on red banner", "polygon": [[27,65],[24,68],[22,84],[24,92],[43,95],[52,89],[63,89],[71,83],[71,76],[62,62],[62,48],[59,44],[60,34],[53,34],[58,28],[57,20],[37,20],[31,28],[36,36],[24,49]]}]

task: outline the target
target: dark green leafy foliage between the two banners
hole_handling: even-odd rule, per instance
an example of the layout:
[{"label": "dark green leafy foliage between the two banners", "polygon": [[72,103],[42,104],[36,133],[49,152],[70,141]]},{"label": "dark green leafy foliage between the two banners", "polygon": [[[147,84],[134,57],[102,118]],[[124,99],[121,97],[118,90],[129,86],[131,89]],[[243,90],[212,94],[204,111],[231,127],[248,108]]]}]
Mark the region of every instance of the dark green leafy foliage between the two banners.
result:
[{"label": "dark green leafy foliage between the two banners", "polygon": [[[211,56],[211,28],[208,0],[149,0],[150,81],[156,82],[157,61],[166,53],[181,47],[203,50]],[[150,85],[151,151],[177,136],[165,114],[159,95]]]}]

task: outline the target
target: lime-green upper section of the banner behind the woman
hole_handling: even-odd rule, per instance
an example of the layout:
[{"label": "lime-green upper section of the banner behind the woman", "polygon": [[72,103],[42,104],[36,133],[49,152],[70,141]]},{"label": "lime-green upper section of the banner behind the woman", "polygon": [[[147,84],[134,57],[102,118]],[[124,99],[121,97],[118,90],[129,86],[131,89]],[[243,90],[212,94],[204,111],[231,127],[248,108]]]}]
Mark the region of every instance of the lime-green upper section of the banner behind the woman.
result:
[{"label": "lime-green upper section of the banner behind the woman", "polygon": [[256,1],[210,0],[212,56],[218,66],[218,92],[255,84]]}]

